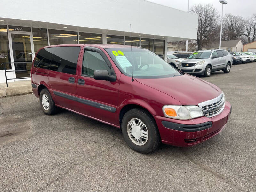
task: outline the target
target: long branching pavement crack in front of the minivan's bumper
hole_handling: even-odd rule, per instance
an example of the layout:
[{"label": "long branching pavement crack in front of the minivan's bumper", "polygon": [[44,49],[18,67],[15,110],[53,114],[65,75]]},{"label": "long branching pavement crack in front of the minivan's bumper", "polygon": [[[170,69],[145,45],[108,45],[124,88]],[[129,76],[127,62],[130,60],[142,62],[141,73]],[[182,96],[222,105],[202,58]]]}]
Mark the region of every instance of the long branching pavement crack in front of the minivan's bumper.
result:
[{"label": "long branching pavement crack in front of the minivan's bumper", "polygon": [[[195,161],[192,157],[188,156],[184,150],[180,149],[181,152],[195,165],[197,165],[198,167],[200,167],[202,170],[204,170],[205,172],[210,173],[212,176],[224,181],[225,183],[230,184],[232,187],[236,188],[238,191],[245,191],[243,188],[237,186],[235,183],[233,183],[231,180],[227,179],[226,177],[224,177],[223,175],[221,175],[220,173],[217,173],[217,171],[213,171],[212,169],[210,169],[209,167],[205,166],[204,164],[201,164],[197,161]],[[226,163],[227,159],[222,162],[220,168]],[[220,170],[220,169],[219,169]]]}]

